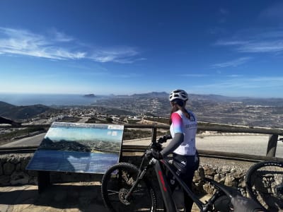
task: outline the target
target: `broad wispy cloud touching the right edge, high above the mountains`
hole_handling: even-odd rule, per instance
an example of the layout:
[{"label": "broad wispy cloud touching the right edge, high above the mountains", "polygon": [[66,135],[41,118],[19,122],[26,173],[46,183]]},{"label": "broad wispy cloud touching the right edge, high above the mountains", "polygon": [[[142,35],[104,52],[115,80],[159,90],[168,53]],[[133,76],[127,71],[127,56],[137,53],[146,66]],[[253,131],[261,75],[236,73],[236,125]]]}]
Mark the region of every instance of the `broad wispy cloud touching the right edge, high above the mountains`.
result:
[{"label": "broad wispy cloud touching the right edge, high above the mountains", "polygon": [[250,32],[250,35],[237,35],[236,39],[218,40],[215,45],[234,47],[237,52],[246,53],[281,53],[283,52],[283,30],[268,29],[268,33]]}]

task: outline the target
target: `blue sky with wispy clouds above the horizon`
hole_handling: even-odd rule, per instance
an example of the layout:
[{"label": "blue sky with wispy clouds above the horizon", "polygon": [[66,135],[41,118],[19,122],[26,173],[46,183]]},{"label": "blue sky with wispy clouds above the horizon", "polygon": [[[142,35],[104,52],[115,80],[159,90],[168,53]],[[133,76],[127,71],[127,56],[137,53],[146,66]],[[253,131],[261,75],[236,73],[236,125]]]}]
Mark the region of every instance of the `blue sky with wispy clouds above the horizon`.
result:
[{"label": "blue sky with wispy clouds above the horizon", "polygon": [[0,92],[283,98],[283,1],[0,1]]}]

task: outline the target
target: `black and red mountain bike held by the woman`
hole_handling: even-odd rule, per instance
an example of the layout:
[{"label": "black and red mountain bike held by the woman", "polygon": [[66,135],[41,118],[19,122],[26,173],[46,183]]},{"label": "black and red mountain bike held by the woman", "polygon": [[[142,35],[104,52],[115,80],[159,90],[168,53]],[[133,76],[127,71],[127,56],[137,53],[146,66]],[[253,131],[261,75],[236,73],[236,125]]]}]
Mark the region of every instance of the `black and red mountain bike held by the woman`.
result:
[{"label": "black and red mountain bike held by the woman", "polygon": [[[162,138],[162,137],[161,137]],[[149,149],[161,150],[161,143],[166,139],[158,139],[149,146]],[[153,177],[149,179],[149,175],[146,172],[154,167],[156,177],[161,191],[163,205],[166,211],[174,212],[178,211],[175,201],[172,197],[172,192],[169,186],[168,179],[166,179],[166,171],[171,172],[179,186],[183,188],[183,191],[191,197],[200,211],[219,211],[216,208],[216,201],[233,196],[241,196],[237,189],[226,187],[224,184],[219,184],[213,179],[206,178],[205,180],[212,184],[216,192],[207,201],[202,202],[192,190],[187,187],[185,182],[180,179],[175,172],[173,165],[168,160],[156,160],[152,156],[149,158],[146,155],[141,157],[141,164],[139,167],[131,163],[117,163],[108,168],[103,175],[101,194],[104,204],[109,211],[157,211],[157,196],[154,190]],[[226,191],[226,192],[225,192]],[[227,192],[232,191],[232,192]],[[243,201],[241,201],[243,202]],[[224,211],[233,211],[233,206],[227,204]]]}]

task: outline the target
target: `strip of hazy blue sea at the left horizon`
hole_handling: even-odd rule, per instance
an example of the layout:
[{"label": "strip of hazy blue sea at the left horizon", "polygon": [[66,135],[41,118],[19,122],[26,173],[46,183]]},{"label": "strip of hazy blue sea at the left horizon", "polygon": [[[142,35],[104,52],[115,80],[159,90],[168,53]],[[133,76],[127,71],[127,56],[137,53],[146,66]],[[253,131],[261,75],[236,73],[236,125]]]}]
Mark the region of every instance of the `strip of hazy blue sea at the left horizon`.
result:
[{"label": "strip of hazy blue sea at the left horizon", "polygon": [[11,105],[92,105],[97,100],[107,98],[107,96],[97,95],[96,97],[85,97],[83,94],[20,94],[20,93],[0,93],[0,101]]}]

